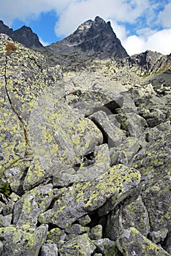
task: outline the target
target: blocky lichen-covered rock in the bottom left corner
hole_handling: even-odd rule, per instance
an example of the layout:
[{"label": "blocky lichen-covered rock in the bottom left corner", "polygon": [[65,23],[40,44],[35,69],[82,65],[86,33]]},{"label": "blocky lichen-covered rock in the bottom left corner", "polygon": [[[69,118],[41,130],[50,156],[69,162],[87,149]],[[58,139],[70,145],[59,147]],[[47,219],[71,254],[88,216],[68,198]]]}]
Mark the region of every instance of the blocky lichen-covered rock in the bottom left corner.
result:
[{"label": "blocky lichen-covered rock in the bottom left corner", "polygon": [[0,240],[3,244],[3,256],[37,256],[47,236],[47,225],[40,227],[0,227]]}]

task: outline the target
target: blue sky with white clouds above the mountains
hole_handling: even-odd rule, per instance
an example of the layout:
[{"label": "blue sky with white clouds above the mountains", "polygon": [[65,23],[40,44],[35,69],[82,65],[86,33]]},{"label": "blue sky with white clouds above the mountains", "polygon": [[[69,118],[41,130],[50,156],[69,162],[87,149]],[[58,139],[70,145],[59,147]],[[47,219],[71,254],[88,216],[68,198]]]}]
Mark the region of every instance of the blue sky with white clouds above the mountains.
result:
[{"label": "blue sky with white clouds above the mountains", "polygon": [[0,0],[0,20],[29,26],[43,45],[72,34],[96,16],[110,21],[129,55],[171,53],[171,0]]}]

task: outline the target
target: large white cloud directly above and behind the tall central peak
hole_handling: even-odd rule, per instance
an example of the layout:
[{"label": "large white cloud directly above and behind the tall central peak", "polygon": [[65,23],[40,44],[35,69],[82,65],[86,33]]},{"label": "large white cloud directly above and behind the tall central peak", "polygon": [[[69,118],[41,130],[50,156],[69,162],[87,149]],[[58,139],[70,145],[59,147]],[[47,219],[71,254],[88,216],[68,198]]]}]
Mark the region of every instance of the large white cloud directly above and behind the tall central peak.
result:
[{"label": "large white cloud directly above and behind the tall central peak", "polygon": [[96,15],[105,20],[134,23],[148,7],[148,0],[72,1],[56,23],[56,35],[59,37],[71,34],[80,23],[95,18]]}]

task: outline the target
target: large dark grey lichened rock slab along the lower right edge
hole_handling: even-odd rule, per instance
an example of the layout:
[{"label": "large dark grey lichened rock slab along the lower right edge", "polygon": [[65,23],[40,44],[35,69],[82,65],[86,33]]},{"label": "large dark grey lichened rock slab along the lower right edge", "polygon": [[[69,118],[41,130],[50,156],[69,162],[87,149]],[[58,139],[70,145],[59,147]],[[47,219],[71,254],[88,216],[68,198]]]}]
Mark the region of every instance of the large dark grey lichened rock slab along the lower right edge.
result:
[{"label": "large dark grey lichened rock slab along the lower right edge", "polygon": [[145,189],[142,191],[142,201],[148,211],[151,232],[158,232],[163,228],[170,232],[171,228],[170,141],[170,132],[166,131],[165,135],[161,136],[159,133],[158,137],[156,136],[156,140],[147,143],[132,162],[132,166],[140,170],[142,183],[145,184]]}]

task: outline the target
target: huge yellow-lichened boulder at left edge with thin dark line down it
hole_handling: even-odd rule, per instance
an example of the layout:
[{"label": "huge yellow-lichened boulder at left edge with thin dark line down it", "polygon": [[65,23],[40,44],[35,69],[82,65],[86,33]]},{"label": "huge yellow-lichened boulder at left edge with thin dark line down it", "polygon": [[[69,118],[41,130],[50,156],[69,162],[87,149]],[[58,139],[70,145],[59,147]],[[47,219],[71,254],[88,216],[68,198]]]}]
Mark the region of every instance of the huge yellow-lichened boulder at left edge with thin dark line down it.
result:
[{"label": "huge yellow-lichened boulder at left edge with thin dark line down it", "polygon": [[[2,64],[0,69],[0,172],[2,177],[6,170],[18,166],[20,162],[26,163],[21,172],[30,166],[34,148],[30,145],[31,135],[28,131],[28,123],[35,107],[34,103],[48,86],[58,86],[56,91],[61,91],[61,86],[57,85],[61,75],[58,67],[53,69],[47,67],[42,54],[24,48],[18,42],[15,42],[15,52],[6,55],[6,44],[12,40],[3,34],[0,39]],[[20,176],[22,177],[22,173]],[[16,184],[17,186],[19,185]]]}]

